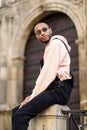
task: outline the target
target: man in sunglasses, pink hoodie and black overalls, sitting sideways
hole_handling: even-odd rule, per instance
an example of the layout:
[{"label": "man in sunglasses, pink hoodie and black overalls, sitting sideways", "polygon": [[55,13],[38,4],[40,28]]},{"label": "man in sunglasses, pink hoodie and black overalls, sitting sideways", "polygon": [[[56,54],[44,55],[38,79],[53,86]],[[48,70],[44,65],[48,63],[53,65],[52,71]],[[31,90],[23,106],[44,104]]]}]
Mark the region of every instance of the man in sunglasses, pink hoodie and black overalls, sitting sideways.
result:
[{"label": "man in sunglasses, pink hoodie and black overalls, sitting sideways", "polygon": [[52,29],[46,23],[38,23],[34,32],[45,45],[42,69],[31,96],[12,111],[12,130],[27,130],[29,121],[44,109],[53,104],[67,104],[73,88],[71,48],[67,40],[60,35],[52,36]]}]

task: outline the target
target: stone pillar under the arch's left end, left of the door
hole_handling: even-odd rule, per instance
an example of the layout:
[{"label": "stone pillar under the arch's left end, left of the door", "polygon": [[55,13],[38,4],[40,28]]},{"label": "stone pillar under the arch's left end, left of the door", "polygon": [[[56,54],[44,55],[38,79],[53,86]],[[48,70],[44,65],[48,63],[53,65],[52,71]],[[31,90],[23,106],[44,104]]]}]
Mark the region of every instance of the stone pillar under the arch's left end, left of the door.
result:
[{"label": "stone pillar under the arch's left end, left of the door", "polygon": [[9,66],[7,102],[11,108],[15,107],[22,100],[23,63],[24,58],[16,57],[12,60],[12,65]]}]

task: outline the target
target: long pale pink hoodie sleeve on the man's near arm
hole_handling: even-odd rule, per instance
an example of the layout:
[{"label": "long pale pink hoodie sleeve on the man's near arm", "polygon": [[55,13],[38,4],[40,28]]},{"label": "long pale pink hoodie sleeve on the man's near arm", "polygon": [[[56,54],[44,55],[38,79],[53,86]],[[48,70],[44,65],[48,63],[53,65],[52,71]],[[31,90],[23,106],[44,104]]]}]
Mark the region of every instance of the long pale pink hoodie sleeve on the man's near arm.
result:
[{"label": "long pale pink hoodie sleeve on the man's near arm", "polygon": [[34,98],[41,92],[43,92],[49,84],[55,79],[57,74],[57,68],[59,64],[59,46],[54,41],[51,43],[47,54],[44,59],[44,65],[36,80],[36,85],[31,94],[31,98]]}]

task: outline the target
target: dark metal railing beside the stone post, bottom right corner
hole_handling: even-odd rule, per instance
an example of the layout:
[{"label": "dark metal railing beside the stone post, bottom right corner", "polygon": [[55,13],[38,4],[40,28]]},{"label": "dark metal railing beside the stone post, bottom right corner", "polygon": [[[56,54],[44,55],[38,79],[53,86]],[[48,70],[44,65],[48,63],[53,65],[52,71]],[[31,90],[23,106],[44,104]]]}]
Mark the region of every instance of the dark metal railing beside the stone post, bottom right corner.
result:
[{"label": "dark metal railing beside the stone post, bottom right corner", "polygon": [[87,130],[87,110],[62,111],[66,116],[66,130]]}]

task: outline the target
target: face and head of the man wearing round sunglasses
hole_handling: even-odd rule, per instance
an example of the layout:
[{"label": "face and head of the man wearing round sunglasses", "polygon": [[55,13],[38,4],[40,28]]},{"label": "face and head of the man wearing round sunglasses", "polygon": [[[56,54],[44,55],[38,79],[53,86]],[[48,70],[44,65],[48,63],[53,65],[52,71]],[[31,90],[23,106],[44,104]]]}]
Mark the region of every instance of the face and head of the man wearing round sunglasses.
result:
[{"label": "face and head of the man wearing round sunglasses", "polygon": [[51,38],[52,30],[45,23],[39,23],[34,28],[36,37],[39,41],[47,44]]}]

